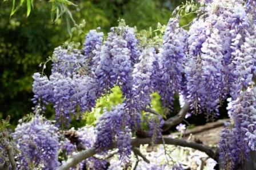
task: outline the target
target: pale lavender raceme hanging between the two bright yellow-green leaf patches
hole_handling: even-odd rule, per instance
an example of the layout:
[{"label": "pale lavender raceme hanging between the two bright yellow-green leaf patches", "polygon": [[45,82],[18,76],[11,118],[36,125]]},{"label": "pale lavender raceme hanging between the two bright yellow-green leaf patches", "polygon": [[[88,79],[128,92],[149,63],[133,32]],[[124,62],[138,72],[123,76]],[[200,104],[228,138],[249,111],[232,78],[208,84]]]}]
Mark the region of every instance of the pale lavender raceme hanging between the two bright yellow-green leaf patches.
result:
[{"label": "pale lavender raceme hanging between the two bright yellow-green leaf patches", "polygon": [[159,55],[154,47],[146,48],[134,65],[132,99],[134,108],[141,111],[150,104],[150,94],[158,90]]}]

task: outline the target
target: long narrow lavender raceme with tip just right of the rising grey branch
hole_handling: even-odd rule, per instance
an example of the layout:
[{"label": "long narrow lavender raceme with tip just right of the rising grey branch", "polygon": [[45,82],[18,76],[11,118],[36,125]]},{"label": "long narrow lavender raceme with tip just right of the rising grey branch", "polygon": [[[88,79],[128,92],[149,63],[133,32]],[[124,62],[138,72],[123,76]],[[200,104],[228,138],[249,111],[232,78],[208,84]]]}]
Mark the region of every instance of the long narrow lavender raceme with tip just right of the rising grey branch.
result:
[{"label": "long narrow lavender raceme with tip just right of the rising grey branch", "polygon": [[190,102],[191,107],[195,112],[200,112],[201,108],[201,98],[205,95],[209,95],[206,92],[205,86],[202,83],[202,63],[201,63],[201,48],[202,44],[209,37],[209,32],[206,31],[209,25],[203,21],[203,19],[198,19],[194,21],[188,32],[189,37],[188,42],[188,52],[187,60],[185,62],[185,76],[186,76],[186,98]]}]

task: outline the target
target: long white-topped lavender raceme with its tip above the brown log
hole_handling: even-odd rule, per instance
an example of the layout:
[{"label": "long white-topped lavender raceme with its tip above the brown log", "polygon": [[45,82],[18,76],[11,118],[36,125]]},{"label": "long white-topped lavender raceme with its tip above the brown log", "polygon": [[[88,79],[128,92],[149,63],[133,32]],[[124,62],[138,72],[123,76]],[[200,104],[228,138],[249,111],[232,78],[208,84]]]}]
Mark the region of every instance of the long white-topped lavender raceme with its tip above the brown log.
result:
[{"label": "long white-topped lavender raceme with its tip above the brown log", "polygon": [[223,55],[221,37],[219,37],[218,29],[212,30],[212,33],[202,44],[201,51],[201,83],[204,84],[206,93],[201,93],[200,103],[203,110],[206,110],[206,114],[208,114],[208,116],[213,113],[215,113],[215,116],[218,116],[219,99],[222,97],[222,89],[224,88],[222,74]]}]

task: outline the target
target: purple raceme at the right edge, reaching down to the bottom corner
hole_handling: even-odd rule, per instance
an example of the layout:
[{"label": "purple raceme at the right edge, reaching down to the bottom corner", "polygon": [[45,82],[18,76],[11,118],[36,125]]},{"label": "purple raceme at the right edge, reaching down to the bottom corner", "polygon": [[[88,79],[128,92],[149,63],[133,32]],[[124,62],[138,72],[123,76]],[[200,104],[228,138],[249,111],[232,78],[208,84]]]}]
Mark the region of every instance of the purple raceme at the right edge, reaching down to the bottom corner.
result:
[{"label": "purple raceme at the right edge, reaching down to the bottom corner", "polygon": [[224,169],[234,169],[235,165],[247,159],[250,151],[255,151],[255,100],[256,88],[249,87],[227,107],[233,125],[226,125],[219,140],[220,160]]}]

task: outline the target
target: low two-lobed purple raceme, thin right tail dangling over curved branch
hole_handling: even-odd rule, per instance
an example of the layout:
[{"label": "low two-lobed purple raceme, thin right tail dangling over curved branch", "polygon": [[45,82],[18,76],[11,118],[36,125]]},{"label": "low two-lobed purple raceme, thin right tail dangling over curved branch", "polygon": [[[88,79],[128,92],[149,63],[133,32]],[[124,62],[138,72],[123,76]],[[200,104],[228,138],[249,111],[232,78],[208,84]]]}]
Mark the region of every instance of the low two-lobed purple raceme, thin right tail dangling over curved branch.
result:
[{"label": "low two-lobed purple raceme, thin right tail dangling over curved branch", "polygon": [[[118,104],[110,111],[105,110],[96,126],[95,147],[98,151],[106,151],[117,140],[120,159],[125,159],[130,155],[131,149],[129,128],[130,116],[127,114],[125,104]],[[123,143],[123,140],[126,140],[126,143]]]}]

